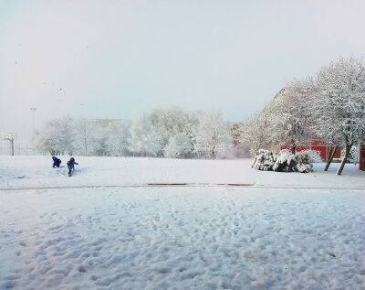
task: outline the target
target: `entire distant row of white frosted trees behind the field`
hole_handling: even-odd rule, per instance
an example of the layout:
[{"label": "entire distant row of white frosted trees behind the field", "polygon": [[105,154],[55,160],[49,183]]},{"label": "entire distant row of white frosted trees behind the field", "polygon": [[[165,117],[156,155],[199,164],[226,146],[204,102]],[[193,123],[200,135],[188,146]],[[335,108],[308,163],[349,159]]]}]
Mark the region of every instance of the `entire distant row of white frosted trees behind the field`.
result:
[{"label": "entire distant row of white frosted trees behind the field", "polygon": [[51,120],[36,134],[51,155],[233,157],[230,125],[219,111],[156,109],[130,120]]}]

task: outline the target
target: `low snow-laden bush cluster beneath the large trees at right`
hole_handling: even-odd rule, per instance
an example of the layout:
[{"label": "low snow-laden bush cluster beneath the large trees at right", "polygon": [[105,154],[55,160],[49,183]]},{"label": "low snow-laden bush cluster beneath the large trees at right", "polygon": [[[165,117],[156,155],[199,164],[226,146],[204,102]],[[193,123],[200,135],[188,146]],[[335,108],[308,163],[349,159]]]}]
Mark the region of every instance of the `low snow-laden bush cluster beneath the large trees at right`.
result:
[{"label": "low snow-laden bush cluster beneath the large trees at right", "polygon": [[288,150],[281,150],[278,155],[274,155],[268,150],[260,149],[253,167],[265,171],[308,173],[313,171],[312,160],[307,151],[293,155]]}]

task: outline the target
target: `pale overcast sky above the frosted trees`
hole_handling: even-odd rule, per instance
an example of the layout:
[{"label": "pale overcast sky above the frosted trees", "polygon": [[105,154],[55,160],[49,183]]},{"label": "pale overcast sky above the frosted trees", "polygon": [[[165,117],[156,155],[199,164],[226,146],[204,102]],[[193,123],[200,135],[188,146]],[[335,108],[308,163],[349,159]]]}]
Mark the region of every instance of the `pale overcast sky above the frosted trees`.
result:
[{"label": "pale overcast sky above the frosted trees", "polygon": [[53,116],[218,108],[231,121],[365,55],[365,1],[0,0],[0,131]]}]

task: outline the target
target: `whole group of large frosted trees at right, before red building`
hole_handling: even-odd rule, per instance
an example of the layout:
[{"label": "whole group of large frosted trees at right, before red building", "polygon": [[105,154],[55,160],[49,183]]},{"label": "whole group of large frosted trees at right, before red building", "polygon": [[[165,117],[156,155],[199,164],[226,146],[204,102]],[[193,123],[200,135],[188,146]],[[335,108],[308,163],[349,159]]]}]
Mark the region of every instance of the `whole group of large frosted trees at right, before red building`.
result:
[{"label": "whole group of large frosted trees at right, before red building", "polygon": [[365,139],[365,65],[362,59],[339,59],[315,76],[295,80],[277,93],[261,112],[240,125],[240,142],[255,156],[260,148],[310,145],[314,139],[330,146],[328,169],[338,148],[343,158]]}]

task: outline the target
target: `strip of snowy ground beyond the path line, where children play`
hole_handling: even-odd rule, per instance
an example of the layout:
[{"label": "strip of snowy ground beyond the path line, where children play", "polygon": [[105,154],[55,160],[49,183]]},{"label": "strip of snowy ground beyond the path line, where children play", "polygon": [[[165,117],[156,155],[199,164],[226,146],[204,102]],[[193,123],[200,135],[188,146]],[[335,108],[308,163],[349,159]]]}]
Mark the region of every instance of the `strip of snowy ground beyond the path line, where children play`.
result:
[{"label": "strip of snowy ground beyond the path line, where children play", "polygon": [[[66,164],[69,157],[61,157]],[[0,156],[0,189],[141,185],[145,183],[244,183],[255,186],[365,188],[365,173],[346,165],[342,177],[333,164],[322,164],[310,174],[262,172],[252,169],[252,160],[182,160],[162,158],[76,157],[75,177],[67,166],[52,168],[50,156]]]}]

